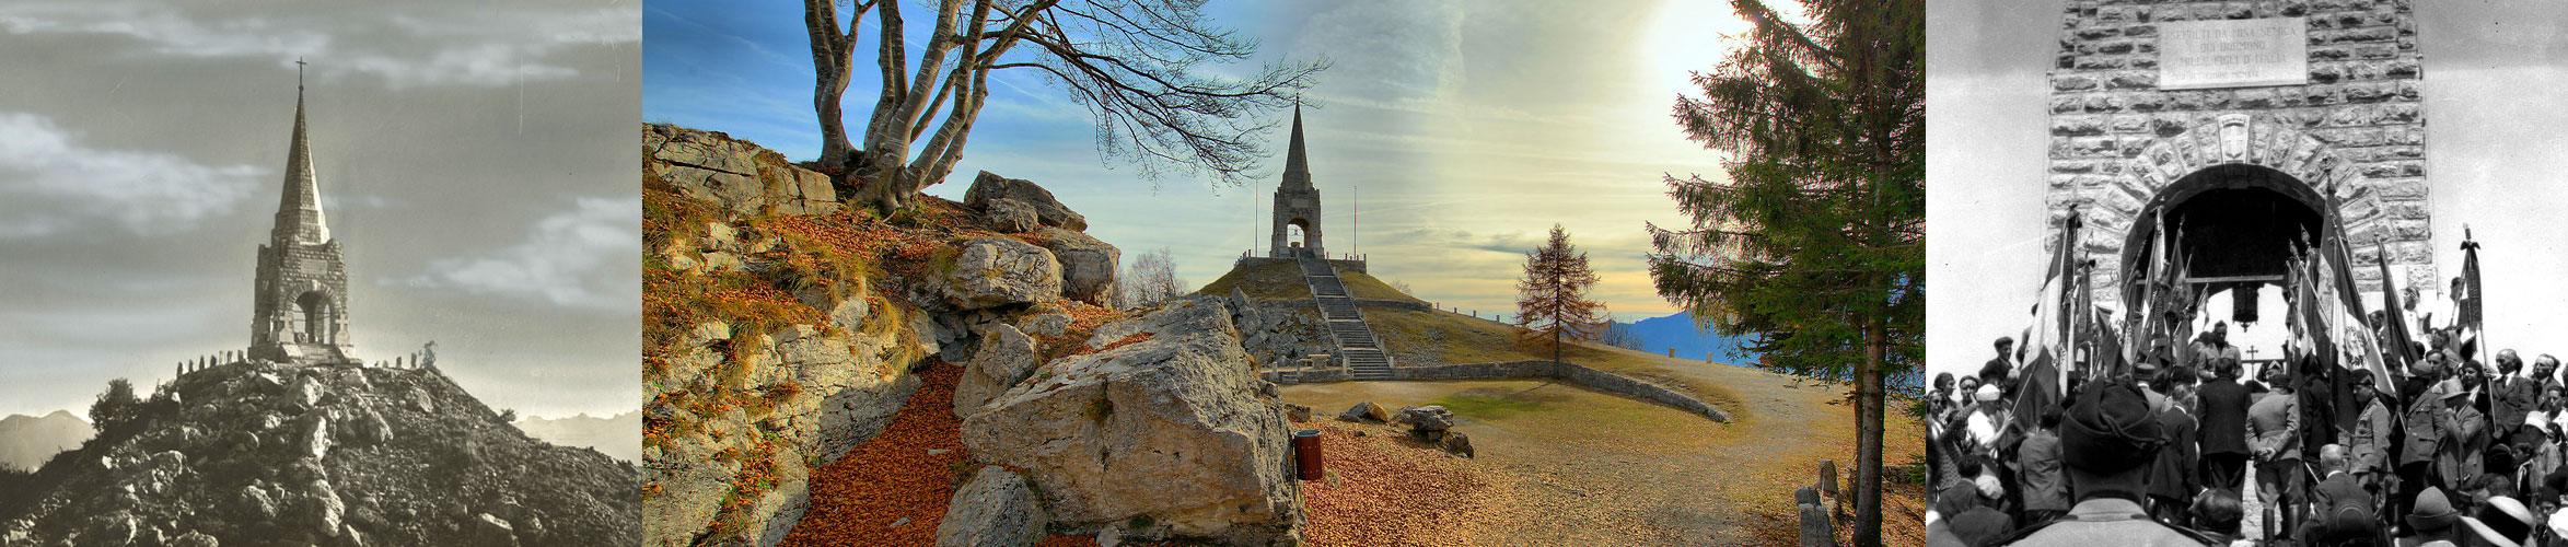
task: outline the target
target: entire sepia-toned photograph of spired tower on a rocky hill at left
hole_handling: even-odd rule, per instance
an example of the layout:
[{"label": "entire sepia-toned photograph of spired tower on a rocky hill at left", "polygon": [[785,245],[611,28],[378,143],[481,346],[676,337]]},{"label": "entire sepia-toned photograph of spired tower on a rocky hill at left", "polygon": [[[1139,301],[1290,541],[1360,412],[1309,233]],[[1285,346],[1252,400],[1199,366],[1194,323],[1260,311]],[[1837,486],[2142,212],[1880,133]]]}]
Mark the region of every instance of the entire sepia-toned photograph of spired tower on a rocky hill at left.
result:
[{"label": "entire sepia-toned photograph of spired tower on a rocky hill at left", "polygon": [[639,39],[0,5],[0,544],[639,542]]}]

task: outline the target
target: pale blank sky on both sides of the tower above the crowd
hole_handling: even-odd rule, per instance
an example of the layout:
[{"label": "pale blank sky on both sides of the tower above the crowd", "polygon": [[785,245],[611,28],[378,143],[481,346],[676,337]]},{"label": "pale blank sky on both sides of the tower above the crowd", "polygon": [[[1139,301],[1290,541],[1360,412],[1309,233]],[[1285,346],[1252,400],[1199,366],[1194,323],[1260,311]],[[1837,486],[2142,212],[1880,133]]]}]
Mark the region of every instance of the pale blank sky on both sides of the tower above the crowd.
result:
[{"label": "pale blank sky on both sides of the tower above the crowd", "polygon": [[[1995,336],[2018,334],[2042,285],[2042,193],[2049,149],[2044,69],[2060,0],[1936,0],[1926,28],[1926,360],[1977,370]],[[2424,54],[2427,180],[2434,262],[2460,275],[2463,223],[2481,241],[2488,342],[2568,354],[2568,5],[2416,3]],[[2275,300],[2275,298],[2265,298]],[[2378,306],[2378,295],[2370,298]],[[2250,331],[2273,354],[2280,326]],[[2255,347],[2255,344],[2250,344]]]}]

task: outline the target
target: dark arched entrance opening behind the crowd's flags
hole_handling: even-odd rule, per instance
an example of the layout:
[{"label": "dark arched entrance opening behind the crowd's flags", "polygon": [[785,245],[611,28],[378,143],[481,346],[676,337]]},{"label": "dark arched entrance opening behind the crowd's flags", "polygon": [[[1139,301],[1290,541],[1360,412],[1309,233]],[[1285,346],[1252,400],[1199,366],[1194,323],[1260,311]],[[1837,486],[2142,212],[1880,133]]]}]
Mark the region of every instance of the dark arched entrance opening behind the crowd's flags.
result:
[{"label": "dark arched entrance opening behind the crowd's flags", "polygon": [[2257,308],[2273,311],[2273,303],[2260,300],[2280,295],[2273,288],[2283,282],[2291,257],[2327,236],[2324,211],[2327,198],[2316,187],[2273,167],[2214,164],[2191,172],[2152,195],[2131,218],[2121,247],[2124,303],[2149,298],[2149,265],[2160,259],[2157,239],[2173,234],[2167,247],[2185,257],[2185,272],[2175,275],[2173,290],[2201,290],[2206,300],[2226,303],[2219,308],[2229,308],[2232,316],[2201,321],[2239,324],[2232,326],[2237,342],[2244,324],[2280,321],[2260,313]]}]

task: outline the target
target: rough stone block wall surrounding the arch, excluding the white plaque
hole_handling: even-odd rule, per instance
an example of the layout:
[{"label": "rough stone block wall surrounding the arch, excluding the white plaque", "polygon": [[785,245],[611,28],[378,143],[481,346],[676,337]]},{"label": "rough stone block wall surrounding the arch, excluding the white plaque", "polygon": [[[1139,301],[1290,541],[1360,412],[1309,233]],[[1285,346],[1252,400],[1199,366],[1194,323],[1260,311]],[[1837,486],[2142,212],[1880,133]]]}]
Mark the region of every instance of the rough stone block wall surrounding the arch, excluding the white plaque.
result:
[{"label": "rough stone block wall surrounding the arch, excluding the white plaque", "polygon": [[[2160,90],[2170,21],[2306,18],[2309,85]],[[2095,288],[2121,282],[2121,249],[2147,203],[2216,164],[2260,164],[2345,200],[2357,265],[2388,234],[2406,285],[2434,288],[2427,231],[2424,69],[2409,0],[2162,3],[2072,0],[2049,72],[2049,234],[2075,205]],[[2221,152],[2221,118],[2247,118],[2250,152]],[[2355,267],[2378,290],[2378,267]],[[2095,290],[2101,303],[2119,290]]]}]

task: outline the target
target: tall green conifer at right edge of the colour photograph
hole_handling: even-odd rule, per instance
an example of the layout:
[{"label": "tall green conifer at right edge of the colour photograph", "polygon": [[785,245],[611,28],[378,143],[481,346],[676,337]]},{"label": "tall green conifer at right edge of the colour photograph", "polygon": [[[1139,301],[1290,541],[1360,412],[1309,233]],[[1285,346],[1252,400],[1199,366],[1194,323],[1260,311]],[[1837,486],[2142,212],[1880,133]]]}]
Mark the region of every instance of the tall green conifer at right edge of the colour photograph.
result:
[{"label": "tall green conifer at right edge of the colour photograph", "polygon": [[1726,177],[1667,177],[1692,226],[1649,226],[1651,277],[1715,331],[1762,334],[1762,367],[1852,378],[1852,532],[1875,547],[1882,385],[1926,347],[1926,3],[1808,0],[1805,23],[1731,5],[1754,31],[1674,105]]}]

